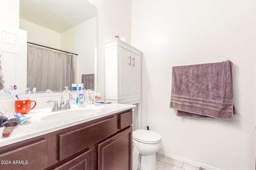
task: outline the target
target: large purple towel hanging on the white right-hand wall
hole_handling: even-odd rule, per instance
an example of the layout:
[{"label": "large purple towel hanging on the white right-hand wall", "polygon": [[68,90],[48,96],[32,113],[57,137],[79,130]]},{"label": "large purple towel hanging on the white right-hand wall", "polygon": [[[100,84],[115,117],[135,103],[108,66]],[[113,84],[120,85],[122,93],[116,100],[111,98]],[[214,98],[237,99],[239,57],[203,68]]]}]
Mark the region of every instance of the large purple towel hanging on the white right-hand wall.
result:
[{"label": "large purple towel hanging on the white right-hand wall", "polygon": [[233,120],[231,61],[172,67],[170,108],[177,116]]}]

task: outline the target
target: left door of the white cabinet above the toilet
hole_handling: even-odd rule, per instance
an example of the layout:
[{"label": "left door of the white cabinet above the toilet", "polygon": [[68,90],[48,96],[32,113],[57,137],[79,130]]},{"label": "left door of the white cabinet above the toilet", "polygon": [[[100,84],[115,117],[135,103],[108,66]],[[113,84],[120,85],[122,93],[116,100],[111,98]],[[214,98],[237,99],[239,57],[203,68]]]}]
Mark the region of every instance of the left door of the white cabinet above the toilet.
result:
[{"label": "left door of the white cabinet above the toilet", "polygon": [[132,56],[130,53],[130,51],[120,47],[120,96],[126,96],[131,94]]}]

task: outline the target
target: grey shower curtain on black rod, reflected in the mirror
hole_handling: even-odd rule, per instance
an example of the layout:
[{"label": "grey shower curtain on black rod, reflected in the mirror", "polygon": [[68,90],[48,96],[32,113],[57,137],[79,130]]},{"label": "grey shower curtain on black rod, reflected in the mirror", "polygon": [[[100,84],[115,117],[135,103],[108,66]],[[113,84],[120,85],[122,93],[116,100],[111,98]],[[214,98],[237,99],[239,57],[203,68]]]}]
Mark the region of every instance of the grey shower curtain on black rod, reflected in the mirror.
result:
[{"label": "grey shower curtain on black rod, reflected in the mirror", "polygon": [[62,91],[74,83],[73,55],[28,45],[27,87]]}]

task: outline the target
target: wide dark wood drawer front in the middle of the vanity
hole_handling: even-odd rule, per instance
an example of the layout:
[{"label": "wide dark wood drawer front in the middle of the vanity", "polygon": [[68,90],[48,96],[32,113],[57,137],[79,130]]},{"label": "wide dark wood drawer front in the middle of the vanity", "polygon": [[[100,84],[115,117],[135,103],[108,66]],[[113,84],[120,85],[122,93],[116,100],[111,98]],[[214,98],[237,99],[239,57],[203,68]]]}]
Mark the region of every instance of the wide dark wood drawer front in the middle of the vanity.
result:
[{"label": "wide dark wood drawer front in the middle of the vanity", "polygon": [[116,133],[116,117],[59,135],[59,161]]}]

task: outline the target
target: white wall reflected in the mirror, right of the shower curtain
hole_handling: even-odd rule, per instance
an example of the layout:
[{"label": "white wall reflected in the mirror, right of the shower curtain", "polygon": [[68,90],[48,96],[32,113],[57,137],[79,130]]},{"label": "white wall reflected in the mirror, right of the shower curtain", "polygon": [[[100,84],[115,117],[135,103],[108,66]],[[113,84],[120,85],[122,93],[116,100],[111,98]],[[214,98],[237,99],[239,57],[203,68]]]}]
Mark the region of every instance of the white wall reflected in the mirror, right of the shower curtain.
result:
[{"label": "white wall reflected in the mirror, right of the shower curtain", "polygon": [[97,17],[61,33],[61,48],[78,54],[78,83],[82,74],[94,73],[94,47],[97,43]]}]

